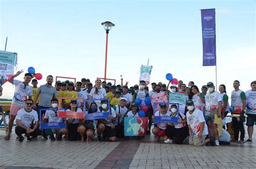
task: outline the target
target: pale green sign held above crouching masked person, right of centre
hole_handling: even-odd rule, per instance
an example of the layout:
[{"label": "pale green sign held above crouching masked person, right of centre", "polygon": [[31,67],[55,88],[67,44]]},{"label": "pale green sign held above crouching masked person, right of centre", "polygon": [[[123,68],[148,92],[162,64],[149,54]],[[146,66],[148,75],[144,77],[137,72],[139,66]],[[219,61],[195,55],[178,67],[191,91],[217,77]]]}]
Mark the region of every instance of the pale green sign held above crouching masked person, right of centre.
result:
[{"label": "pale green sign held above crouching masked person, right of centre", "polygon": [[179,103],[178,111],[185,114],[187,95],[182,93],[170,93],[169,102],[170,103]]}]

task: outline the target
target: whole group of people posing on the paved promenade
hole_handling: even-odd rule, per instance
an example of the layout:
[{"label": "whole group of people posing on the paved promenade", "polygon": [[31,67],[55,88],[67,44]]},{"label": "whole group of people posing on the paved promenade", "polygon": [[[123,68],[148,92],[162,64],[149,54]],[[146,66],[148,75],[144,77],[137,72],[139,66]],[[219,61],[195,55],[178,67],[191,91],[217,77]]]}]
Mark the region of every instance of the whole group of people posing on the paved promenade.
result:
[{"label": "whole group of people posing on the paved promenade", "polygon": [[[23,71],[18,71],[14,78]],[[9,82],[14,84],[15,94],[12,99],[8,134],[5,140],[10,139],[12,126],[16,118],[15,133],[18,140],[22,142],[25,134],[27,140],[36,139],[38,135],[48,139],[46,130],[39,130],[39,125],[50,122],[63,122],[66,127],[52,129],[49,138],[61,140],[66,137],[68,140],[92,141],[96,136],[98,141],[116,141],[116,138],[127,138],[124,136],[124,117],[139,117],[140,106],[145,106],[145,98],[154,98],[156,94],[163,93],[169,100],[172,93],[186,95],[186,106],[184,113],[179,112],[177,104],[169,102],[160,103],[159,109],[154,112],[153,105],[147,105],[145,112],[149,119],[146,134],[151,134],[152,123],[158,116],[177,117],[177,123],[156,122],[153,124],[152,133],[158,141],[163,137],[164,143],[183,144],[189,137],[189,144],[203,146],[211,144],[218,146],[221,143],[221,136],[218,134],[218,126],[214,119],[225,119],[228,112],[232,114],[232,125],[234,138],[232,141],[244,143],[245,129],[244,122],[248,126],[248,139],[252,143],[253,126],[256,122],[256,81],[251,83],[251,89],[243,92],[239,89],[240,82],[233,82],[234,91],[231,93],[231,105],[228,104],[226,86],[221,84],[219,92],[216,91],[212,82],[201,87],[201,92],[194,82],[184,84],[181,80],[176,84],[152,83],[152,90],[141,80],[139,85],[128,87],[128,83],[112,85],[110,82],[97,79],[95,84],[90,79],[82,78],[80,82],[57,81],[52,85],[53,77],[46,78],[46,84],[37,86],[37,80],[33,75],[25,73],[24,81],[12,78]],[[32,80],[32,86],[30,82]],[[170,86],[170,88],[169,88]],[[208,92],[207,92],[208,91]],[[142,103],[137,105],[135,100],[139,98]],[[88,99],[88,102],[83,100]],[[95,101],[93,101],[96,99]],[[98,99],[98,100],[97,100]],[[84,105],[85,104],[85,105]],[[76,118],[61,118],[57,116],[58,109],[62,107],[68,112],[109,112],[107,118],[87,120]],[[50,109],[46,111],[41,111]],[[42,113],[40,113],[42,112]],[[225,125],[225,124],[224,124]],[[223,135],[228,135],[223,129]],[[239,139],[240,132],[240,139]],[[56,136],[54,135],[56,134]],[[223,136],[224,137],[224,136]],[[227,137],[228,138],[228,137]],[[230,138],[230,137],[229,137]],[[226,142],[230,141],[229,139]],[[225,141],[224,141],[225,142]]]}]

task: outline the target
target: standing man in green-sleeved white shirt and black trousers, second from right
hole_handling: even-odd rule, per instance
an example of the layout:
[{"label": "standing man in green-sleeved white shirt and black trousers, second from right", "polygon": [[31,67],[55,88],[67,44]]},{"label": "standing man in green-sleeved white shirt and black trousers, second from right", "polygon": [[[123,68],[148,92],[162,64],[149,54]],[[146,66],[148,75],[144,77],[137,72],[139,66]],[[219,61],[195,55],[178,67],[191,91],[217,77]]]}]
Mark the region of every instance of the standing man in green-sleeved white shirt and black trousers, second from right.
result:
[{"label": "standing man in green-sleeved white shirt and black trousers, second from right", "polygon": [[[244,143],[245,138],[245,126],[244,121],[241,120],[241,115],[245,113],[246,108],[246,97],[245,92],[239,89],[240,82],[238,80],[234,80],[233,87],[234,90],[231,93],[231,110],[234,117],[232,117],[232,124],[234,127],[235,136],[233,141],[237,143]],[[240,134],[240,140],[238,141]]]}]

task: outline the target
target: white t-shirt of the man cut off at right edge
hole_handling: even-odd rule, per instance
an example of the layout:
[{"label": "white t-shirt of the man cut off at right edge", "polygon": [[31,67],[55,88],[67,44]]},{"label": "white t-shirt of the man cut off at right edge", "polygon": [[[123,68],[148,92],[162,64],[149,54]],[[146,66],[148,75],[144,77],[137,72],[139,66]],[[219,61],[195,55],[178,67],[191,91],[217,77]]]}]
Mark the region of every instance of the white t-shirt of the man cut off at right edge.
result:
[{"label": "white t-shirt of the man cut off at right edge", "polygon": [[247,90],[245,92],[246,96],[246,107],[248,114],[256,114],[256,91]]}]

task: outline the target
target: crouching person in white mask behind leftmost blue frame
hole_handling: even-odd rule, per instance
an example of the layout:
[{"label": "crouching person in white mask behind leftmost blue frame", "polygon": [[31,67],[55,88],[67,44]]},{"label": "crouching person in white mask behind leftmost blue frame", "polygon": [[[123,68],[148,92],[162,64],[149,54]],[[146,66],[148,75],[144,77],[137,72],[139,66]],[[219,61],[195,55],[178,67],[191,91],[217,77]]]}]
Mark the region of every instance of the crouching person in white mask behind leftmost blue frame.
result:
[{"label": "crouching person in white mask behind leftmost blue frame", "polygon": [[[46,110],[44,119],[42,120],[42,123],[60,123],[63,122],[63,118],[57,116],[57,110],[58,110],[58,99],[53,98],[51,99],[51,107],[52,110]],[[62,135],[68,133],[68,130],[66,128],[62,129],[52,129],[52,134],[50,136],[50,139],[52,141],[55,141],[54,134],[56,134],[56,139],[57,140],[62,140]],[[44,139],[48,139],[46,137],[45,133],[42,133],[42,136]]]}]

